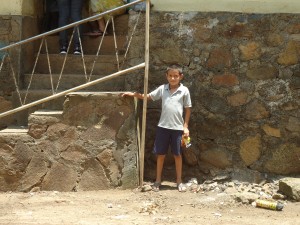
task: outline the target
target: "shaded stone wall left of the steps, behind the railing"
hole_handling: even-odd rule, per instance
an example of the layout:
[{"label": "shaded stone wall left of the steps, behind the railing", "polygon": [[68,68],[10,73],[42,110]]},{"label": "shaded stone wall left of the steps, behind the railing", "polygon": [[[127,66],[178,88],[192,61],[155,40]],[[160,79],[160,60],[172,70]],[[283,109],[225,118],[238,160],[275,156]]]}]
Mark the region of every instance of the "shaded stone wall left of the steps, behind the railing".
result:
[{"label": "shaded stone wall left of the steps, behind the railing", "polygon": [[[28,16],[0,16],[0,48],[37,35],[39,33],[37,21],[37,18]],[[6,56],[0,71],[0,112],[13,108],[12,95],[16,90],[16,85],[22,88],[20,85],[22,83],[21,74],[23,74],[24,69],[33,65],[34,44],[17,46],[9,49],[7,52],[0,52],[1,62]],[[16,117],[1,118],[0,129],[14,124]]]}]

